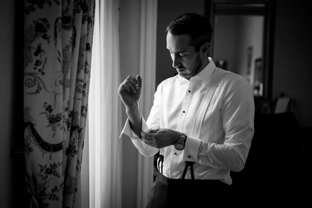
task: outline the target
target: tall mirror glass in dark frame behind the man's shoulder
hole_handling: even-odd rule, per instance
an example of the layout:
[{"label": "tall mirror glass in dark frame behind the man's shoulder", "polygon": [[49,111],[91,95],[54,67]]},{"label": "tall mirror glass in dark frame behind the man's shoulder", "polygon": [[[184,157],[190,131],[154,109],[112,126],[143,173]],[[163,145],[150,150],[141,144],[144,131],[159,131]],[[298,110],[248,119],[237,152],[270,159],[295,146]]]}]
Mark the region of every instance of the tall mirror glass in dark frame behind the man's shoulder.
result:
[{"label": "tall mirror glass in dark frame behind the man's shoulder", "polygon": [[213,57],[216,65],[245,77],[254,95],[263,96],[261,62],[264,17],[221,14],[214,18]]}]

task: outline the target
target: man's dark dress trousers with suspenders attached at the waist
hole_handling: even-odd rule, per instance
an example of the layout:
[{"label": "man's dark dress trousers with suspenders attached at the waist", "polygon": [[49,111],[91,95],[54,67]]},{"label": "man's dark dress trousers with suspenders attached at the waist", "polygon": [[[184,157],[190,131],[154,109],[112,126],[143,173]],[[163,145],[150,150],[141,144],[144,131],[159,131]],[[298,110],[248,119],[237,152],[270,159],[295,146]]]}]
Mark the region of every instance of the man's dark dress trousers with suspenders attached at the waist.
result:
[{"label": "man's dark dress trousers with suspenders attached at the waist", "polygon": [[[184,179],[188,166],[191,166],[192,179]],[[193,163],[186,162],[182,179],[169,179],[157,173],[146,207],[230,207],[229,190],[230,186],[219,180],[194,180]]]}]

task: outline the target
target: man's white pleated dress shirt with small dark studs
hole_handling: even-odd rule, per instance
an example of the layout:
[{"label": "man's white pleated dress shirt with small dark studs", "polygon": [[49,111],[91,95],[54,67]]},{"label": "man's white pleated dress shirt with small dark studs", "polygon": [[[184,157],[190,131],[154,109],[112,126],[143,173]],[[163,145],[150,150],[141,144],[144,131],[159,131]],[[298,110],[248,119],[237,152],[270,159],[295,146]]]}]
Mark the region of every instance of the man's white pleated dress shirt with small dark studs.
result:
[{"label": "man's white pleated dress shirt with small dark studs", "polygon": [[[184,150],[178,151],[173,145],[160,149],[164,176],[182,178],[185,161],[194,161],[195,179],[220,180],[230,185],[230,170],[244,168],[254,134],[253,93],[248,81],[232,72],[226,72],[214,87],[214,77],[225,71],[209,60],[189,81],[176,75],[158,85],[147,121],[142,116],[142,131],[168,128],[187,135]],[[129,118],[123,133],[144,156],[159,151],[134,134]],[[191,179],[190,170],[185,179]]]}]

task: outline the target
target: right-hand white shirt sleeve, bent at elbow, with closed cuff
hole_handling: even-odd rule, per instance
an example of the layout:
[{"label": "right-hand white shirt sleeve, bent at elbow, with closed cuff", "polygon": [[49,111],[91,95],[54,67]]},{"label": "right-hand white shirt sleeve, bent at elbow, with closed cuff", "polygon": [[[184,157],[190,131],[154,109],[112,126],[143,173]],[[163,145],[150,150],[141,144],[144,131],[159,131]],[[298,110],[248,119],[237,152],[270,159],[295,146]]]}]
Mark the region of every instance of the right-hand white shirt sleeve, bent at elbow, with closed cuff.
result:
[{"label": "right-hand white shirt sleeve, bent at elbow, with closed cuff", "polygon": [[241,171],[254,134],[254,111],[253,92],[249,83],[246,79],[237,80],[224,91],[222,99],[224,143],[216,144],[188,136],[183,160]]}]

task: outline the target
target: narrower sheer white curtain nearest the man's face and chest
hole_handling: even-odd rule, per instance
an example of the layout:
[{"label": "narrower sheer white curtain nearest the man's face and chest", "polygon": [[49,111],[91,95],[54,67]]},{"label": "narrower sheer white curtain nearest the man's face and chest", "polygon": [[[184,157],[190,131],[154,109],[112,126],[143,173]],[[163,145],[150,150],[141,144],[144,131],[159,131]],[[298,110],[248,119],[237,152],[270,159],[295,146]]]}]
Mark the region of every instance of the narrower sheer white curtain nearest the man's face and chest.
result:
[{"label": "narrower sheer white curtain nearest the man's face and chest", "polygon": [[[140,111],[145,119],[153,106],[156,73],[157,0],[141,0],[140,75],[144,90]],[[138,154],[137,207],[145,207],[153,183],[154,157]]]}]

